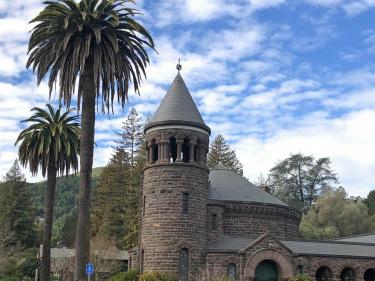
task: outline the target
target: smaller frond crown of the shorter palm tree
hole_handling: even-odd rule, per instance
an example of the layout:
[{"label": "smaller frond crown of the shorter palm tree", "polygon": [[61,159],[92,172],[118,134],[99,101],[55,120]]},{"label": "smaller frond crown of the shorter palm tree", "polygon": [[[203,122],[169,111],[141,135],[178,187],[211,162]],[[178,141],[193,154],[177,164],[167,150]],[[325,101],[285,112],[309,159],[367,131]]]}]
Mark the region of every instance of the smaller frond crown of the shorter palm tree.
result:
[{"label": "smaller frond crown of the shorter palm tree", "polygon": [[21,131],[16,144],[21,142],[18,156],[23,166],[29,165],[32,174],[39,169],[43,177],[50,167],[60,174],[68,174],[70,168],[78,169],[78,154],[80,141],[79,116],[69,116],[72,109],[56,111],[47,104],[47,110],[34,107],[34,114],[22,122],[32,124]]}]

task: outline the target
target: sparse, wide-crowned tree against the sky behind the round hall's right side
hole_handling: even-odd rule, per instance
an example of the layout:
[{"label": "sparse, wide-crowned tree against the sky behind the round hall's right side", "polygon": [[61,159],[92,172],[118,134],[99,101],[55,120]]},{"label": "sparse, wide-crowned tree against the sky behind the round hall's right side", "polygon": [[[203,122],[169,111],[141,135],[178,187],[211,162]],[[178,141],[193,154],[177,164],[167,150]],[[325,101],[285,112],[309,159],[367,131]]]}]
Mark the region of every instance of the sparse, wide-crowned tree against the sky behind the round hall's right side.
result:
[{"label": "sparse, wide-crowned tree against the sky behind the round hall's right side", "polygon": [[274,196],[307,212],[317,198],[338,182],[329,158],[315,160],[300,153],[280,161],[270,170],[268,185]]}]

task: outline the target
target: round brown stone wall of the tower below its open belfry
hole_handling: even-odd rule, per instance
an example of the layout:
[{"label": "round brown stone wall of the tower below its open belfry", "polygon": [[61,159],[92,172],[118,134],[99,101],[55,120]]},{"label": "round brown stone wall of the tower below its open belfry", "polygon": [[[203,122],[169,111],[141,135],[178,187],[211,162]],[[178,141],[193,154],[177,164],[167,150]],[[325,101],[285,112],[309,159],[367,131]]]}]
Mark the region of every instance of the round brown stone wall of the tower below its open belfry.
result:
[{"label": "round brown stone wall of the tower below its open belfry", "polygon": [[[203,263],[207,242],[208,168],[195,163],[160,163],[144,171],[141,247],[145,271],[178,274],[182,248],[189,250],[189,271]],[[189,194],[188,213],[182,212]]]}]

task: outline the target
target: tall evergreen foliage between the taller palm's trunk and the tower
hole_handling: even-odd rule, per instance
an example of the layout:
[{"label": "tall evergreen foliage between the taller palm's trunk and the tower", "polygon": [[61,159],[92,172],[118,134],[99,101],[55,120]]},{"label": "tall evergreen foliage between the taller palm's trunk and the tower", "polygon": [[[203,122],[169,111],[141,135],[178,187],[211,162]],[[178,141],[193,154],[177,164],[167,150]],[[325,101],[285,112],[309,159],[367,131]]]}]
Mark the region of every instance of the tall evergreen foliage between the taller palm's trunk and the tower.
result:
[{"label": "tall evergreen foliage between the taller palm's trunk and the tower", "polygon": [[103,170],[91,220],[93,235],[114,239],[122,249],[138,243],[139,192],[145,163],[143,124],[134,109],[128,120],[133,121],[125,122],[114,154]]}]

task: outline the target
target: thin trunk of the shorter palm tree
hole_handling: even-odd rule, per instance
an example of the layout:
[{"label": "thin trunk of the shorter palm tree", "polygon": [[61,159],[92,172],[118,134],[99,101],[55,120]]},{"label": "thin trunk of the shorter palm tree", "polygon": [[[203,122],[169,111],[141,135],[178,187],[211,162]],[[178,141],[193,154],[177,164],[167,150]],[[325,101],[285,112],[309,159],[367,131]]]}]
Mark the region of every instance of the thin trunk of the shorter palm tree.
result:
[{"label": "thin trunk of the shorter palm tree", "polygon": [[40,272],[40,281],[50,280],[51,264],[51,233],[53,221],[53,206],[55,203],[56,189],[56,168],[48,167],[47,190],[46,190],[46,208],[44,212],[44,231],[43,231],[43,253]]}]

